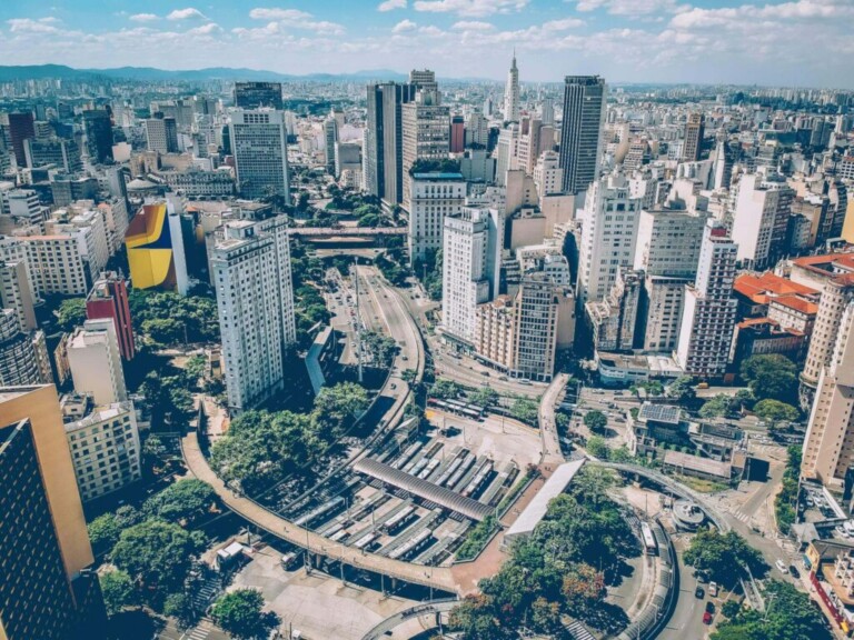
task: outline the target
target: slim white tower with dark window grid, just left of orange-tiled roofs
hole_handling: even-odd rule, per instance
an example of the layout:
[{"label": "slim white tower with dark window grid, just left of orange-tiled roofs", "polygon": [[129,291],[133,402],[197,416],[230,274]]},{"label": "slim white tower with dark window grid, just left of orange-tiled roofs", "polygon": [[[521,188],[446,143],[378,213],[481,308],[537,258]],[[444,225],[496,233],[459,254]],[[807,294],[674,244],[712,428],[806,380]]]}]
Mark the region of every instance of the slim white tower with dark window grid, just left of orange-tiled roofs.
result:
[{"label": "slim white tower with dark window grid, just left of orange-tiled roofs", "polygon": [[703,231],[697,278],[685,288],[676,361],[688,376],[719,379],[726,372],[738,301],[733,298],[738,247],[716,220]]}]

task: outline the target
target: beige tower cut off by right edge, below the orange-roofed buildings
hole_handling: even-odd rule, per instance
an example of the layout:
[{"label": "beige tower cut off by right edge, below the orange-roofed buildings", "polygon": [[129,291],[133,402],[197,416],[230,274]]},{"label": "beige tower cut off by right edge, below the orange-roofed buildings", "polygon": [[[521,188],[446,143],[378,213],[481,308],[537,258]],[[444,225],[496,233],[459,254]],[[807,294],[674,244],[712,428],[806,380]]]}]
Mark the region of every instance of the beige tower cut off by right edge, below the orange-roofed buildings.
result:
[{"label": "beige tower cut off by right edge, below the orange-roofed buildings", "polygon": [[854,302],[845,306],[835,338],[832,356],[818,376],[801,472],[842,488],[854,466]]}]

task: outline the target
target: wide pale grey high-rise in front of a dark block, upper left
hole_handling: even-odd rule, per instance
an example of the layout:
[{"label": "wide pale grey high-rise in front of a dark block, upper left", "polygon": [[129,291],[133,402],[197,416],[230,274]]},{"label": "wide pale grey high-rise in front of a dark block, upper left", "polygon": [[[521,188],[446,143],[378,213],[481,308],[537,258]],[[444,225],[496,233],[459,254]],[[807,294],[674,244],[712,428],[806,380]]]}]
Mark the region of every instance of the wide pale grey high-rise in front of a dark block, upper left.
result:
[{"label": "wide pale grey high-rise in front of a dark block, upper left", "polygon": [[288,134],[282,112],[234,109],[228,130],[240,193],[245,198],[279,196],[290,203]]}]

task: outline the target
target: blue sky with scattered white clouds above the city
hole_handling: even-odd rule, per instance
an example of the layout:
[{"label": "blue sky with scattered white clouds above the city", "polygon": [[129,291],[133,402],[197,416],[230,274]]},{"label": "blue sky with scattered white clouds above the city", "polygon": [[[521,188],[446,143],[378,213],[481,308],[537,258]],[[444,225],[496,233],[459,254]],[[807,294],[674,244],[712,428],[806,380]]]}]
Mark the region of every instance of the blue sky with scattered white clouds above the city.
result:
[{"label": "blue sky with scattered white clouds above the city", "polygon": [[[190,3],[188,3],[190,2]],[[854,88],[854,0],[0,0],[0,64]]]}]

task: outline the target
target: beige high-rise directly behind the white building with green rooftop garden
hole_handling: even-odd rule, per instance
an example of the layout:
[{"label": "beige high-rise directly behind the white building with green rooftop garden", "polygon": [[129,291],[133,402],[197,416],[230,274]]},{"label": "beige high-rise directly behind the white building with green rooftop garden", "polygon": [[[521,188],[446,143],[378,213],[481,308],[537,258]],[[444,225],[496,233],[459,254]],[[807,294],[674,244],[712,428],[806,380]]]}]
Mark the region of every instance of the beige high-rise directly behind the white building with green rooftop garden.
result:
[{"label": "beige high-rise directly behind the white building with green rooftop garden", "polygon": [[418,160],[441,160],[450,149],[450,114],[438,89],[420,88],[415,100],[400,108],[403,136],[404,209],[410,210],[409,170]]}]

